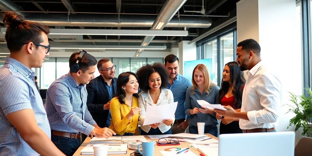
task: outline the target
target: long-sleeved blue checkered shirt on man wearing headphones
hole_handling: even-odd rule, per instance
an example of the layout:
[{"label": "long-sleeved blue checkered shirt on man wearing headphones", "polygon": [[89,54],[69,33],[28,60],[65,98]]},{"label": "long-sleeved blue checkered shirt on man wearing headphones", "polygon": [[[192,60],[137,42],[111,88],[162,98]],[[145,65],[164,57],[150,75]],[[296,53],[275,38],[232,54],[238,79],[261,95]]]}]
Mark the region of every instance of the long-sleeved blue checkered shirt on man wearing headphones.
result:
[{"label": "long-sleeved blue checkered shirt on man wearing headphones", "polygon": [[87,108],[85,84],[78,85],[70,73],[55,80],[46,91],[46,113],[52,130],[90,135],[93,120]]}]

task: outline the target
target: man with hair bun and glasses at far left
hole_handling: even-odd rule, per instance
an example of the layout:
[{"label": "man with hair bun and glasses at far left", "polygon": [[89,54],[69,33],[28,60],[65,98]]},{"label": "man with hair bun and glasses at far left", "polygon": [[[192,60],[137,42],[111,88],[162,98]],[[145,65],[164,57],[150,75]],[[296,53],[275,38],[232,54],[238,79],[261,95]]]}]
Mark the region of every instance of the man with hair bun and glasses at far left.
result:
[{"label": "man with hair bun and glasses at far left", "polygon": [[0,155],[64,155],[52,143],[35,72],[49,56],[49,27],[6,12],[10,56],[0,68]]}]

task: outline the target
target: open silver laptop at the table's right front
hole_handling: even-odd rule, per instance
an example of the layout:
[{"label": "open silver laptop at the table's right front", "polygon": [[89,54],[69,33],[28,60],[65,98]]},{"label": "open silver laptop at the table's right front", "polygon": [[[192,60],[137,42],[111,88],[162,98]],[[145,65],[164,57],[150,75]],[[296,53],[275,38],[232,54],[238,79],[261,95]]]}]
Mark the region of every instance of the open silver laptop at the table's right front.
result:
[{"label": "open silver laptop at the table's right front", "polygon": [[221,134],[219,156],[294,156],[295,132]]}]

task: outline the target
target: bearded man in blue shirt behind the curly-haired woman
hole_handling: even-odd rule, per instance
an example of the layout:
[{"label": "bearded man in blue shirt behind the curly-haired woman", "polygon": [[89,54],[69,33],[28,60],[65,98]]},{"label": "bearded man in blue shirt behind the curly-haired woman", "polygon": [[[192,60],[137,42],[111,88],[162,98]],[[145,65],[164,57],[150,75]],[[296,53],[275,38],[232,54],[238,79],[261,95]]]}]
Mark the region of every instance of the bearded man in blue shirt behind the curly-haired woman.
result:
[{"label": "bearded man in blue shirt behind the curly-haired woman", "polygon": [[179,74],[179,58],[177,56],[173,54],[166,56],[164,66],[169,75],[167,89],[172,91],[174,102],[178,101],[171,131],[172,134],[185,133],[185,130],[188,128],[188,118],[186,118],[184,113],[185,93],[192,84],[190,80]]}]

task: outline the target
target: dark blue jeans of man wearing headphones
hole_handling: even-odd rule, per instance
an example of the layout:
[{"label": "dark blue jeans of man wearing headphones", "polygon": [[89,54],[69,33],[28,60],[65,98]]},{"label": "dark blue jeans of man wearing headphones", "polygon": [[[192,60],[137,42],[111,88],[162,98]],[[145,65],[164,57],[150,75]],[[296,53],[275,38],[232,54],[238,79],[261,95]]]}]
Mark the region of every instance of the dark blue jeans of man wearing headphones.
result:
[{"label": "dark blue jeans of man wearing headphones", "polygon": [[81,145],[81,140],[75,138],[66,138],[57,135],[51,135],[52,142],[65,155],[72,156]]}]

